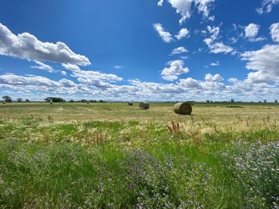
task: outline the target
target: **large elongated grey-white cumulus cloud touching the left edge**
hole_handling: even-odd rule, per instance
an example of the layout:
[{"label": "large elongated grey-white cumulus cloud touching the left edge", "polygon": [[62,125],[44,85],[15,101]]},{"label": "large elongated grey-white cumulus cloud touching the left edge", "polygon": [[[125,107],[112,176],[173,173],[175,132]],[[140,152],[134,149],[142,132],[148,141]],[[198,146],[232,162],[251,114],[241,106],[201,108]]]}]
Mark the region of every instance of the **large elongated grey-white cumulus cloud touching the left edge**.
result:
[{"label": "large elongated grey-white cumulus cloud touching the left edge", "polygon": [[63,42],[41,42],[30,33],[17,36],[0,23],[0,54],[15,56],[33,61],[51,61],[54,63],[72,63],[75,65],[90,65],[86,56],[75,54]]}]

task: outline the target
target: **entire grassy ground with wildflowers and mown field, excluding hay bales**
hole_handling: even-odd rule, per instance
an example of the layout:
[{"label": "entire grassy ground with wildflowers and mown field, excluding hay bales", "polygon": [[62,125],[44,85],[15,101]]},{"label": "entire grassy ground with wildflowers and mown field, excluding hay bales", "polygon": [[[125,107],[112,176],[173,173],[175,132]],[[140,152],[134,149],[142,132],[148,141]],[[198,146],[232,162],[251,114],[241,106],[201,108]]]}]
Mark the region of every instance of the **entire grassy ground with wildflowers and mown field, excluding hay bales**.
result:
[{"label": "entire grassy ground with wildflowers and mown field, excluding hay bales", "polygon": [[0,208],[278,208],[279,104],[0,104]]}]

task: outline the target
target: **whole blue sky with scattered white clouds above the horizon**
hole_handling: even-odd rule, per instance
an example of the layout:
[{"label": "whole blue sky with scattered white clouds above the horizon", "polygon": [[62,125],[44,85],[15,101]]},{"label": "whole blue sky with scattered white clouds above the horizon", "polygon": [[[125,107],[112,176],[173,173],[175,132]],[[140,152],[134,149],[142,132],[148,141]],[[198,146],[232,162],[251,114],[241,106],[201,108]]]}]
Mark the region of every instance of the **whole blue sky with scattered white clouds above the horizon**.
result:
[{"label": "whole blue sky with scattered white clouds above the horizon", "polygon": [[279,99],[279,0],[4,0],[0,96]]}]

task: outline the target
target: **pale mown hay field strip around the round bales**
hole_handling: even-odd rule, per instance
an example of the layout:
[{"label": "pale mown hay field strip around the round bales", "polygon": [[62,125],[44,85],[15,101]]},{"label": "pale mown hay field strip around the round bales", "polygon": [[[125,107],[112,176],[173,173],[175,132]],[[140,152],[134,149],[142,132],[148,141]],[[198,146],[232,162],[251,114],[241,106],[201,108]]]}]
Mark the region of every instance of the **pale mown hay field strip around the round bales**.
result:
[{"label": "pale mown hay field strip around the round bales", "polygon": [[0,104],[0,118],[34,118],[54,121],[181,121],[190,117],[199,121],[229,121],[234,118],[278,118],[279,104],[276,103],[200,103],[192,106],[191,115],[175,114],[174,102],[150,103],[149,109],[140,109],[126,102],[106,103],[6,103]]}]

